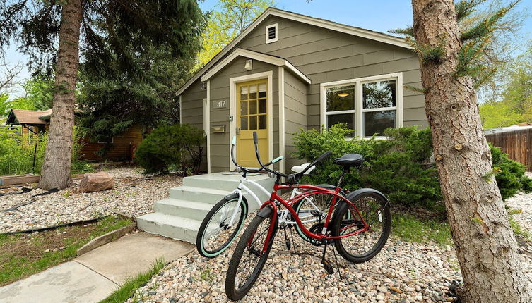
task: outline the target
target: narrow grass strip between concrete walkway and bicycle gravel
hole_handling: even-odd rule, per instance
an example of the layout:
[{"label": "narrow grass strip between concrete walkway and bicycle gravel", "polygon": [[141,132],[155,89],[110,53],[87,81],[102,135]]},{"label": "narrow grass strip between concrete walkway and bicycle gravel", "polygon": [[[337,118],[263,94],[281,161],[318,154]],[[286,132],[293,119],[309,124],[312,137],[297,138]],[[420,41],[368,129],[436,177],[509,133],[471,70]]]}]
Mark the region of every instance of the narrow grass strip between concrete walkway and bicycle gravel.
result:
[{"label": "narrow grass strip between concrete walkway and bicycle gravel", "polygon": [[135,295],[134,302],[144,301],[142,295],[135,294],[135,291],[143,285],[146,285],[151,277],[158,273],[165,265],[166,262],[163,259],[158,259],[148,271],[139,273],[136,278],[126,280],[124,285],[114,291],[109,297],[102,299],[100,303],[123,303],[132,295]]}]

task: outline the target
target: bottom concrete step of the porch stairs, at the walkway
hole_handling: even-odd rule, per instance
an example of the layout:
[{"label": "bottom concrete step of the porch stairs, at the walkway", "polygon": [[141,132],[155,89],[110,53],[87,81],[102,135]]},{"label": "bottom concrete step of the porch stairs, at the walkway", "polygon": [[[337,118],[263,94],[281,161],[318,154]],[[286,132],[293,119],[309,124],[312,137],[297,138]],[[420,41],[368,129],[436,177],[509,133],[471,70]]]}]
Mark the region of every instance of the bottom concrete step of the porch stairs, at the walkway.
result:
[{"label": "bottom concrete step of the porch stairs, at the walkway", "polygon": [[140,230],[192,244],[196,244],[196,234],[201,225],[199,220],[161,213],[137,217],[136,222]]}]

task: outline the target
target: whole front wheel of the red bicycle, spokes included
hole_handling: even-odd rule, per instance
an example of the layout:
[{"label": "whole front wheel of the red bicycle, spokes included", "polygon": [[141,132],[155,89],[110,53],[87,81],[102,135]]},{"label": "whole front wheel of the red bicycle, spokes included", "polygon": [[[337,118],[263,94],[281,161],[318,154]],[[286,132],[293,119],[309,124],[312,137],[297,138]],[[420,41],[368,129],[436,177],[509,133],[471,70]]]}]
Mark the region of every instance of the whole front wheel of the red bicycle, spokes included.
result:
[{"label": "whole front wheel of the red bicycle, spokes included", "polygon": [[[247,295],[266,264],[277,231],[277,222],[272,220],[272,209],[265,216],[256,216],[238,241],[225,277],[225,294],[232,301],[238,301]],[[268,249],[262,252],[271,224],[274,224],[273,234]]]}]

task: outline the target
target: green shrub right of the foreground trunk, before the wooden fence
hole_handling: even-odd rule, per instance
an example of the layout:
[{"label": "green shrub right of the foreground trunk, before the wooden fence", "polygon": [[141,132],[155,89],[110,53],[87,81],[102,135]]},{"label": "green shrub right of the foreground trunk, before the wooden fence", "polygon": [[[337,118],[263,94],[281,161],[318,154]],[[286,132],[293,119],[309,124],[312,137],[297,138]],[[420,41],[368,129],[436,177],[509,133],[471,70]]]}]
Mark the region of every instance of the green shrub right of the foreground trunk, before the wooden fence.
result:
[{"label": "green shrub right of the foreground trunk, before the wooden fence", "polygon": [[495,174],[495,180],[502,195],[502,199],[514,196],[519,190],[532,192],[532,179],[525,175],[525,166],[517,161],[508,159],[500,147],[490,144],[491,159],[494,168],[500,168]]}]

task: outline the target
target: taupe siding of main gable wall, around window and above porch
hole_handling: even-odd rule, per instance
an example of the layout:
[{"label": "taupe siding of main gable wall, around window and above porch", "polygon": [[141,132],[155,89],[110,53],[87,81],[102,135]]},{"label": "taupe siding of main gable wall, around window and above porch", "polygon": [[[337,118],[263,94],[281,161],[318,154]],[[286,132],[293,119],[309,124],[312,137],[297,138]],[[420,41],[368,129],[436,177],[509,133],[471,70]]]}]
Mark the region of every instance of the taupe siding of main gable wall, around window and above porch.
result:
[{"label": "taupe siding of main gable wall, around window and above porch", "polygon": [[[278,41],[266,44],[265,26],[278,24]],[[288,59],[312,80],[307,87],[307,126],[319,128],[323,82],[403,72],[403,85],[420,85],[418,57],[410,50],[271,16],[240,47]],[[427,126],[424,97],[403,89],[405,126]]]}]

